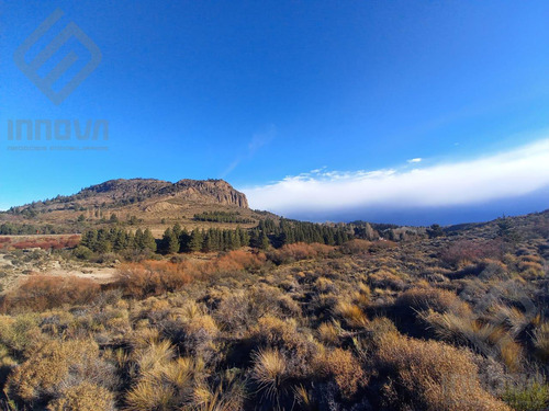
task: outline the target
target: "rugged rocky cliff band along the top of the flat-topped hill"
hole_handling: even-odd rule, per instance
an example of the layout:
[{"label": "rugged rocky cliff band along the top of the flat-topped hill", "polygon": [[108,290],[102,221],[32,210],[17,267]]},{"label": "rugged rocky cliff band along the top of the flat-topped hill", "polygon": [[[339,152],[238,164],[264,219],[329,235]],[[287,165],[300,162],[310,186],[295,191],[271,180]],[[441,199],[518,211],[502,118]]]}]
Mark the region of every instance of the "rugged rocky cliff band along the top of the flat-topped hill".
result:
[{"label": "rugged rocky cliff band along the top of the flat-topped hill", "polygon": [[248,208],[244,193],[236,191],[224,180],[180,180],[177,183],[154,179],[110,180],[83,189],[77,195],[80,198],[102,197],[107,202],[134,198],[177,198],[204,204],[234,205]]}]

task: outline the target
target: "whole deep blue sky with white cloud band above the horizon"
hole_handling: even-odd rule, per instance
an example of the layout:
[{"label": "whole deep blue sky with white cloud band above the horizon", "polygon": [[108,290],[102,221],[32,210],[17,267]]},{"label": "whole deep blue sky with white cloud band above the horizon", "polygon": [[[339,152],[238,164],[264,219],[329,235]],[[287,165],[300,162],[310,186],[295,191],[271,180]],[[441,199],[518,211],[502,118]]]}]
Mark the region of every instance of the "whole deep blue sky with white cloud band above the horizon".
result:
[{"label": "whole deep blue sky with white cloud band above the horizon", "polygon": [[[59,105],[12,58],[56,9],[52,32],[75,22],[102,56]],[[549,208],[547,2],[9,0],[0,13],[0,209],[135,176],[223,178],[253,207],[315,220]],[[108,150],[9,149],[9,119],[44,118],[107,119],[109,140],[89,146]]]}]

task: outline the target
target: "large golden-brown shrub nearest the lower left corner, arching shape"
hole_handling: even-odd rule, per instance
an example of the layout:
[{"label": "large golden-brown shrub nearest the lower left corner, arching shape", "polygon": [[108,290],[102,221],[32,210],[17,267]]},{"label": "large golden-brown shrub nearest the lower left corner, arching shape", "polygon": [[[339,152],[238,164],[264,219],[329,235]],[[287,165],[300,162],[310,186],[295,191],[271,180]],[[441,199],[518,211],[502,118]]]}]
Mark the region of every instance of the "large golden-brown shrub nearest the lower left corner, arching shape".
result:
[{"label": "large golden-brown shrub nearest the lower left corner, arching shape", "polygon": [[31,350],[27,358],[10,375],[12,398],[27,403],[59,398],[83,381],[115,389],[119,380],[114,366],[99,357],[94,342],[53,340]]}]

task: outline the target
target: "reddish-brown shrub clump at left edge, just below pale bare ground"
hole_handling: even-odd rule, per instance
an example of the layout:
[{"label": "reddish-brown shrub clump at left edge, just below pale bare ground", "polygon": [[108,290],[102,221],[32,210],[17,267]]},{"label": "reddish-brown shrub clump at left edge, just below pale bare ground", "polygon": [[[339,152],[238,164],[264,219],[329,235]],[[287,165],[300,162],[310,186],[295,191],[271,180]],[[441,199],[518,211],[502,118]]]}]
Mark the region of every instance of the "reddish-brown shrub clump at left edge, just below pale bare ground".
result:
[{"label": "reddish-brown shrub clump at left edge, just below pale bare ground", "polygon": [[45,311],[65,304],[90,304],[100,292],[92,279],[32,275],[5,296],[7,311]]}]

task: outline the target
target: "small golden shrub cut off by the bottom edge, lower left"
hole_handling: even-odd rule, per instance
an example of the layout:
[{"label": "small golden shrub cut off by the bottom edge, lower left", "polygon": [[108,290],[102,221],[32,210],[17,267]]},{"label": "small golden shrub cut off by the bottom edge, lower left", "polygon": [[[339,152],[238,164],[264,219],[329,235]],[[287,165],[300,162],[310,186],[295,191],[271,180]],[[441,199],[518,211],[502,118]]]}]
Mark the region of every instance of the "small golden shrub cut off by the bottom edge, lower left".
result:
[{"label": "small golden shrub cut off by the bottom edge, lower left", "polygon": [[67,388],[47,406],[48,411],[112,411],[114,396],[104,387],[82,381]]}]

